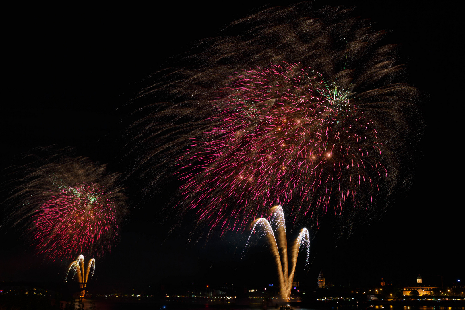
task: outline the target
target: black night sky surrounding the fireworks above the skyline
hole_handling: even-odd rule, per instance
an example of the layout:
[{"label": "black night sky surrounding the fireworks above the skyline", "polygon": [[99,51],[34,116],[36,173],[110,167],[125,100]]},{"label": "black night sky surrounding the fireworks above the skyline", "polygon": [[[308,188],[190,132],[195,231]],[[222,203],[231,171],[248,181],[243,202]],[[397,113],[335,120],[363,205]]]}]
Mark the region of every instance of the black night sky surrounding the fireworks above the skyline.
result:
[{"label": "black night sky surrounding the fireworks above the skyline", "polygon": [[[411,84],[430,97],[423,106],[427,128],[409,195],[400,197],[382,221],[344,242],[316,238],[310,270],[297,275],[301,282],[316,284],[321,267],[328,281],[363,286],[378,282],[381,276],[393,284],[411,284],[421,273],[426,283],[438,284],[437,275],[449,282],[465,275],[464,211],[457,180],[460,151],[451,125],[456,121],[454,105],[460,105],[455,101],[460,95],[454,91],[460,89],[447,89],[451,82],[459,85],[453,80],[460,42],[449,40],[457,20],[451,8],[407,2],[327,2],[357,6],[360,16],[390,30],[388,41],[403,46]],[[215,35],[221,26],[264,4],[234,1],[210,7],[173,2],[151,7],[12,9],[3,58],[7,95],[0,122],[2,162],[13,163],[15,156],[36,146],[58,144],[74,146],[79,155],[111,164],[112,154],[105,152],[106,135],[119,129],[121,115],[115,110],[139,89],[140,81],[189,43]],[[160,227],[152,214],[153,210],[133,210],[120,244],[97,262],[96,281],[244,282],[257,277],[273,281],[274,270],[263,247],[240,261],[242,247],[236,251],[232,236],[206,245],[205,241],[187,244],[185,234],[167,235],[167,228]],[[62,277],[60,264],[34,258],[27,245],[10,237],[1,242],[0,281],[59,281]],[[262,275],[252,275],[252,270]]]}]

